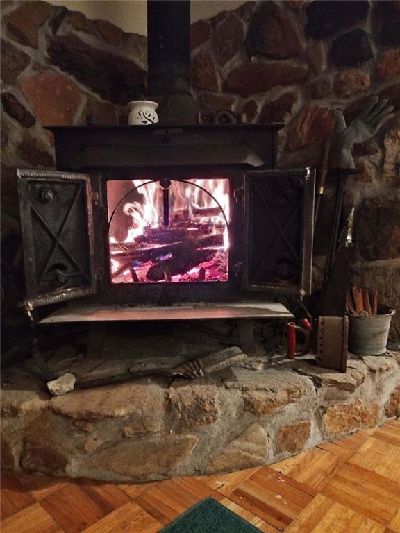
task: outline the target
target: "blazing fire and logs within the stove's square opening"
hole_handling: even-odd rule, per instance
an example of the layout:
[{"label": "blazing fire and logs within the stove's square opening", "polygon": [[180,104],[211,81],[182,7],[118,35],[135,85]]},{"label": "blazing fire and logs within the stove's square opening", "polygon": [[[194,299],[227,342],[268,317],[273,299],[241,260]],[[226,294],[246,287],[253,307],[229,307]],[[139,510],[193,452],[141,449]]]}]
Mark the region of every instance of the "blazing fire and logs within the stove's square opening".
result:
[{"label": "blazing fire and logs within the stove's square opening", "polygon": [[108,212],[113,283],[228,280],[227,179],[110,181]]}]

